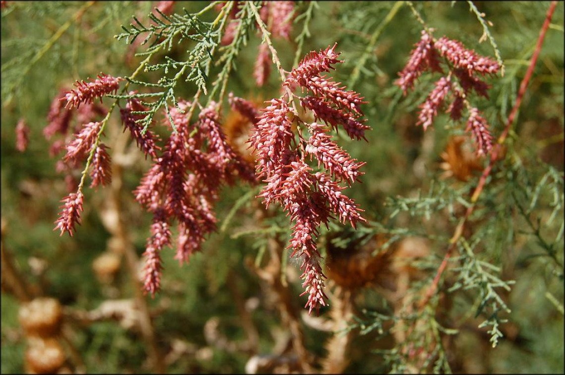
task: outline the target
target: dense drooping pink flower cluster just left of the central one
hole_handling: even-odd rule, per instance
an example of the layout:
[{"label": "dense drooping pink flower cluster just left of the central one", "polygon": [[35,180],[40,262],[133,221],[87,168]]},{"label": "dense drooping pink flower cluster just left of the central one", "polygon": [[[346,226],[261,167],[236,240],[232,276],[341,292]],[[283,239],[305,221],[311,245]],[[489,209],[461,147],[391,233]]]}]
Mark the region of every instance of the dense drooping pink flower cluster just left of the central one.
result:
[{"label": "dense drooping pink flower cluster just left of the central one", "polygon": [[155,294],[160,286],[160,251],[172,243],[171,225],[178,222],[179,238],[175,258],[188,262],[197,252],[207,233],[216,228],[214,202],[223,183],[232,184],[233,175],[254,182],[251,167],[226,142],[220,127],[218,106],[212,102],[203,109],[198,121],[189,123],[184,113],[190,103],[180,101],[179,108],[169,108],[177,133],[166,140],[160,155],[157,137],[141,129],[132,110],[142,109],[135,99],[122,111],[127,127],[153,165],[134,191],[136,200],[153,214],[151,237],[147,239],[145,290]]}]

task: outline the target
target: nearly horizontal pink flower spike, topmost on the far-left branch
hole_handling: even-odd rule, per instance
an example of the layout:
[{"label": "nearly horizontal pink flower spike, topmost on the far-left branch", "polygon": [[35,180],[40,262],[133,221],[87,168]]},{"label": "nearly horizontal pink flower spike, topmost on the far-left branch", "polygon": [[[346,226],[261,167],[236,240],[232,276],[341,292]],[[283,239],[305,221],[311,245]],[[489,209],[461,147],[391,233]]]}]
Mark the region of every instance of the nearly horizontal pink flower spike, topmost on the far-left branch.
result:
[{"label": "nearly horizontal pink flower spike, topmost on the far-left branch", "polygon": [[94,99],[118,91],[120,81],[123,78],[98,74],[97,80],[90,79],[90,82],[76,81],[76,89],[68,91],[65,95],[67,100],[66,108],[78,108],[82,103],[92,103]]}]

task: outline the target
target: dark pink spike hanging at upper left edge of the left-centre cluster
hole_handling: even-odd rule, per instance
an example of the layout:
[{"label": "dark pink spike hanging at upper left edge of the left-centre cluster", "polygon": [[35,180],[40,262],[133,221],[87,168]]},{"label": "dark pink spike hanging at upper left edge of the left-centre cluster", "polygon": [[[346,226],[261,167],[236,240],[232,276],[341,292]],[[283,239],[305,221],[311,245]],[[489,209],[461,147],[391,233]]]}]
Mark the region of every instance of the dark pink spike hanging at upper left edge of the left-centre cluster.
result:
[{"label": "dark pink spike hanging at upper left edge of the left-centre cluster", "polygon": [[[130,95],[134,93],[134,91],[129,92]],[[157,159],[157,151],[159,151],[160,148],[156,142],[159,141],[159,137],[149,129],[147,129],[145,134],[142,134],[142,127],[137,121],[141,120],[144,116],[132,113],[142,111],[147,111],[147,108],[140,103],[139,99],[129,99],[125,104],[125,108],[120,108],[121,123],[124,125],[124,131],[125,129],[129,130],[129,133],[131,133],[132,138],[136,140],[137,146],[143,151],[145,157],[149,155],[151,158]]]}]

